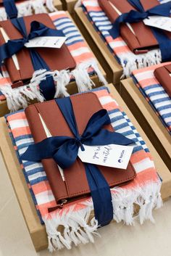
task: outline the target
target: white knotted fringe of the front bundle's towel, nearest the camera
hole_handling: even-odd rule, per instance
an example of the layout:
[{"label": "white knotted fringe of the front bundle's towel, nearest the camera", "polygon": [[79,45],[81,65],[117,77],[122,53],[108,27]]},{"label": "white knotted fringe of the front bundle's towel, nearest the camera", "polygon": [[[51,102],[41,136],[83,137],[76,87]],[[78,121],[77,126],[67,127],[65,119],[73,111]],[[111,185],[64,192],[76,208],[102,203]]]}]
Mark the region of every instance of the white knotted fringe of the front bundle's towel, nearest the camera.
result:
[{"label": "white knotted fringe of the front bundle's towel, nearest the camera", "polygon": [[[133,190],[119,187],[111,189],[114,220],[117,223],[123,221],[126,225],[133,225],[135,218],[139,218],[141,224],[145,220],[151,220],[154,223],[152,210],[162,207],[160,188],[160,181],[151,181]],[[79,204],[81,203],[79,202]],[[72,207],[68,206],[62,212],[56,210],[43,218],[50,252],[64,247],[71,249],[72,244],[77,246],[80,243],[94,242],[93,236],[99,236],[98,223],[91,215],[93,211],[92,200],[88,199],[82,204],[84,205],[82,210],[75,211],[75,205],[72,205]],[[135,204],[140,209],[138,215],[134,217]]]}]

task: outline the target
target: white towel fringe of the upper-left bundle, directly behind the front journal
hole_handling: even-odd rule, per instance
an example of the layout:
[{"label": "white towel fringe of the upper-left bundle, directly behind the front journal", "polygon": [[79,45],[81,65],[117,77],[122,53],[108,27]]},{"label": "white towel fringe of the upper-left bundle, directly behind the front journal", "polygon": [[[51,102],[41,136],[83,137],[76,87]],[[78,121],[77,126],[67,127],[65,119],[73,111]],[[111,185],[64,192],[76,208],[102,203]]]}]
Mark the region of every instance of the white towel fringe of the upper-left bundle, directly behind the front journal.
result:
[{"label": "white towel fringe of the upper-left bundle, directly behind the front journal", "polygon": [[46,80],[46,77],[49,75],[54,78],[54,82],[56,84],[56,93],[54,98],[69,96],[67,86],[69,85],[71,78],[75,79],[79,92],[88,91],[95,86],[93,80],[91,80],[91,77],[88,75],[89,67],[93,67],[93,70],[101,83],[106,85],[107,81],[101,74],[98,65],[95,61],[91,60],[80,63],[80,65],[71,72],[70,70],[38,70],[33,73],[33,78],[30,80],[28,85],[21,86],[19,88],[12,88],[10,85],[4,85],[1,86],[1,92],[7,98],[7,107],[11,112],[13,112],[27,107],[30,100],[37,99],[38,102],[44,101],[38,85],[41,83],[41,80]]}]

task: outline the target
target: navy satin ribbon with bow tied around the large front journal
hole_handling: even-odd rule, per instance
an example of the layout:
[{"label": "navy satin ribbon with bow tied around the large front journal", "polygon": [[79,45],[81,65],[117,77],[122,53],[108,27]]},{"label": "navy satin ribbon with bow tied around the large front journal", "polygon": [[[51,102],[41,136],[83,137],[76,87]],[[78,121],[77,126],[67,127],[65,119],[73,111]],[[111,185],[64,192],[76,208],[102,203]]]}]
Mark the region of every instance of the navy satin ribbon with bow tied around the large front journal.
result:
[{"label": "navy satin ribbon with bow tied around the large front journal", "polygon": [[[26,152],[21,156],[22,160],[37,162],[42,159],[53,158],[62,169],[65,169],[70,168],[77,159],[79,147],[84,150],[83,144],[97,146],[107,144],[128,145],[134,143],[134,141],[125,138],[120,133],[103,129],[104,125],[111,123],[107,110],[99,110],[92,115],[83,135],[80,136],[70,97],[56,99],[56,102],[74,138],[54,136],[44,139],[37,144],[28,146]],[[112,196],[109,184],[96,165],[84,163],[84,166],[93,199],[95,218],[100,226],[107,225],[113,218]]]}]

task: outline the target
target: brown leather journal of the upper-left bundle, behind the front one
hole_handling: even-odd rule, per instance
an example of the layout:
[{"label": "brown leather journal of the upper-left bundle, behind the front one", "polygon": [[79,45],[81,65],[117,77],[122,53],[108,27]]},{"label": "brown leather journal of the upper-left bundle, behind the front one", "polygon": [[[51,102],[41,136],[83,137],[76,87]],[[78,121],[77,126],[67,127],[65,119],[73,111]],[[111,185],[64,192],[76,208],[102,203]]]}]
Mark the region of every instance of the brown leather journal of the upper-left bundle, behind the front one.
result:
[{"label": "brown leather journal of the upper-left bundle, behind the front one", "polygon": [[[43,25],[46,25],[49,28],[56,29],[54,23],[47,14],[31,15],[23,18],[25,20],[27,33],[30,33],[30,23],[33,21],[41,22]],[[9,36],[10,39],[22,38],[21,33],[17,30],[17,28],[14,27],[14,25],[12,25],[10,20],[1,21],[0,27],[4,28],[4,31],[7,33],[7,36]],[[4,43],[5,41],[0,31],[0,46]],[[60,49],[36,48],[36,51],[44,59],[51,70],[73,69],[76,65],[75,60],[65,44],[63,44]],[[12,58],[6,59],[4,64],[7,67],[7,71],[9,72],[12,83],[19,83],[20,86],[22,86],[25,81],[32,78],[34,69],[31,62],[29,49],[26,47],[23,48],[16,54],[16,56],[20,70],[17,70]]]}]

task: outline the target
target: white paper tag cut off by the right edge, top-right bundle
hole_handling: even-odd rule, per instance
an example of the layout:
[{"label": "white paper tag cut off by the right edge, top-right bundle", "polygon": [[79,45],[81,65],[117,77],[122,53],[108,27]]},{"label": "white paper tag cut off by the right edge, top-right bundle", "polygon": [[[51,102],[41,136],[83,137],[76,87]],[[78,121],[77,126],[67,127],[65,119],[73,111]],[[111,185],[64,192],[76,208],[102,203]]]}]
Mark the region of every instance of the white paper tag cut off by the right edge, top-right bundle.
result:
[{"label": "white paper tag cut off by the right edge, top-right bundle", "polygon": [[143,20],[145,25],[160,28],[171,32],[171,18],[164,16],[150,16],[148,19]]}]

